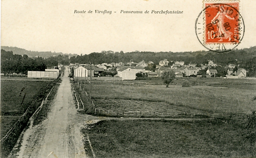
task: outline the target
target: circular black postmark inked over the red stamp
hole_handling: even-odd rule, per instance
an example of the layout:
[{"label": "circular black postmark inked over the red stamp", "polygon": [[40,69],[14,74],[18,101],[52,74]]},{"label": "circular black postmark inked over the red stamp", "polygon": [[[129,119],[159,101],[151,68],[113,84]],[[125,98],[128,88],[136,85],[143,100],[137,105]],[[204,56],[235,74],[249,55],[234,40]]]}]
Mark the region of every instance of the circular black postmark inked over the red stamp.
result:
[{"label": "circular black postmark inked over the red stamp", "polygon": [[239,3],[205,3],[195,30],[198,41],[210,51],[225,53],[235,49],[245,32]]}]

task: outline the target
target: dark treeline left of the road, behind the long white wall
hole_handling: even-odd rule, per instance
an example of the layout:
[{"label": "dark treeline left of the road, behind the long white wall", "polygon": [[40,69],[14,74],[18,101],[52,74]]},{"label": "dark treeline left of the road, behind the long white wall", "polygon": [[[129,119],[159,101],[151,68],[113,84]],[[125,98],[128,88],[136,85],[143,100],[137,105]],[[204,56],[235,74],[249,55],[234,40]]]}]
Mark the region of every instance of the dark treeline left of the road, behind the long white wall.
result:
[{"label": "dark treeline left of the road, behind the long white wall", "polygon": [[44,71],[47,67],[58,66],[58,59],[42,57],[30,58],[24,54],[13,54],[1,49],[1,73],[21,73],[27,74],[27,71]]}]

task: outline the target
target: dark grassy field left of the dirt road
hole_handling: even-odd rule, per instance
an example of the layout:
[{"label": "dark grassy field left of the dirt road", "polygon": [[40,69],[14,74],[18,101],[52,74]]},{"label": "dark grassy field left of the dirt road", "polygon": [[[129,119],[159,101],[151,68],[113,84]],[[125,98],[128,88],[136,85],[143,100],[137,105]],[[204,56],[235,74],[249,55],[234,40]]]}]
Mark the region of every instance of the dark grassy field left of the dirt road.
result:
[{"label": "dark grassy field left of the dirt road", "polygon": [[30,107],[27,114],[20,119],[20,122],[13,129],[13,134],[11,133],[9,137],[1,142],[1,152],[3,155],[10,152],[9,150],[18,139],[18,137],[13,137],[12,135],[20,135],[29,117],[34,113],[41,104],[42,99],[54,85],[55,83],[53,82],[41,82],[40,80],[1,80],[0,139],[6,135],[27,108]]}]

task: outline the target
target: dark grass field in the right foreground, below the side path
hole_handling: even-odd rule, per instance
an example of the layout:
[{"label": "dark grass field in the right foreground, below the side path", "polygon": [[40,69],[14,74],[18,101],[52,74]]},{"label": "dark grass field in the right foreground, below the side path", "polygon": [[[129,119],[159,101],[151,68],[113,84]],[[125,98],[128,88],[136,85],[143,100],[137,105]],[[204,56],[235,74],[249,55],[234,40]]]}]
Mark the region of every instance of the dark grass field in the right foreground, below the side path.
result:
[{"label": "dark grass field in the right foreground, below the side path", "polygon": [[97,158],[253,158],[245,126],[241,119],[111,120],[82,132]]}]

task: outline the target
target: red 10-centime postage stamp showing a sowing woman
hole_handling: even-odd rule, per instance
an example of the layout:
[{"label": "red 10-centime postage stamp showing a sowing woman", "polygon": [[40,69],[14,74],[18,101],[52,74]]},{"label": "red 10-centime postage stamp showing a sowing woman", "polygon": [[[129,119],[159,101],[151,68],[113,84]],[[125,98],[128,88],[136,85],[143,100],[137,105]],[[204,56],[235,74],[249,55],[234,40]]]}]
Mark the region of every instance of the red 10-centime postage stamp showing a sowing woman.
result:
[{"label": "red 10-centime postage stamp showing a sowing woman", "polygon": [[205,44],[239,43],[239,3],[205,3]]}]

